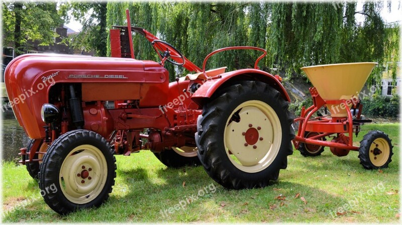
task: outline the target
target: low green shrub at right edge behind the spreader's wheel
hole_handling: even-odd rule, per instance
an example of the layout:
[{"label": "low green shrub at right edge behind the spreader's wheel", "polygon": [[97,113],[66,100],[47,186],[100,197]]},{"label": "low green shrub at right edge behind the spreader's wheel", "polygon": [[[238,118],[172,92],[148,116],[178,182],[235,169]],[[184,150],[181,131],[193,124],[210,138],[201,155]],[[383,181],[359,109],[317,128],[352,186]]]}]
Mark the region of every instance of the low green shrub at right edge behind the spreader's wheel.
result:
[{"label": "low green shrub at right edge behind the spreader's wheel", "polygon": [[399,117],[399,95],[391,97],[373,94],[372,98],[364,97],[362,100],[362,114],[380,117]]}]

